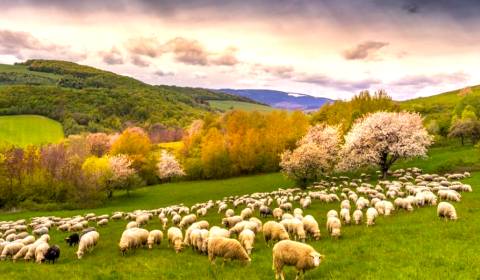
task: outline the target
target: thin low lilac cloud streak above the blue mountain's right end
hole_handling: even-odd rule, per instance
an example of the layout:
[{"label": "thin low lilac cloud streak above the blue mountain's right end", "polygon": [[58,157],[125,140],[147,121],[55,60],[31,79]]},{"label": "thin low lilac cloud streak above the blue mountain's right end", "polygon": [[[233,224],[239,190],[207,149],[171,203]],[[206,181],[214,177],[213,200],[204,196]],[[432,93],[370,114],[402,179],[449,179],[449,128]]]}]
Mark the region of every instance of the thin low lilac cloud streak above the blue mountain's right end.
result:
[{"label": "thin low lilac cloud streak above the blue mountain's right end", "polygon": [[373,85],[381,84],[380,80],[363,79],[363,80],[342,80],[328,77],[323,74],[301,74],[294,79],[297,82],[315,84],[322,87],[342,90],[342,91],[359,91],[371,88]]}]

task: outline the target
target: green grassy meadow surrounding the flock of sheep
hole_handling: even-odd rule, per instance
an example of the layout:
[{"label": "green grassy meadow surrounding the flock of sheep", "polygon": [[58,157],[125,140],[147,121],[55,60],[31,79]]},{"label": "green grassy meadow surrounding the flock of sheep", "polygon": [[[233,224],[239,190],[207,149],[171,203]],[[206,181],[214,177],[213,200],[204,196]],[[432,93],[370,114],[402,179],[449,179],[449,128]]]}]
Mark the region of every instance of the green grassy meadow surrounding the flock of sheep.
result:
[{"label": "green grassy meadow surrounding the flock of sheep", "polygon": [[[472,185],[472,193],[463,193],[456,203],[459,220],[445,222],[436,217],[435,207],[416,209],[412,213],[398,211],[391,217],[381,217],[377,225],[344,226],[343,236],[333,240],[325,230],[326,212],[339,207],[338,203],[315,202],[305,211],[319,221],[322,239],[309,242],[326,260],[305,279],[478,279],[480,275],[480,172],[475,165],[479,157],[472,147],[433,148],[428,159],[401,162],[397,167],[418,166],[427,172],[436,172],[462,159],[462,168],[474,171],[464,180]],[[452,165],[453,166],[453,165]],[[0,214],[0,220],[28,218],[37,215],[71,216],[94,212],[111,213],[115,210],[152,209],[173,203],[191,205],[226,195],[272,191],[290,187],[292,183],[280,174],[239,177],[227,180],[178,182],[134,191],[131,196],[119,193],[105,207],[90,210],[57,212],[20,212]],[[294,207],[298,206],[294,204]],[[239,210],[237,210],[239,211]],[[258,213],[257,213],[258,215]],[[219,224],[221,216],[210,211],[210,224]],[[264,220],[265,221],[265,220]],[[122,257],[117,243],[126,221],[110,222],[99,228],[100,242],[93,252],[77,260],[74,248],[64,242],[67,233],[51,231],[51,244],[60,244],[62,255],[55,265],[37,265],[10,261],[0,263],[0,274],[5,279],[26,279],[32,275],[47,279],[273,279],[271,248],[257,235],[252,262],[243,266],[238,262],[222,266],[209,264],[206,256],[190,249],[175,254],[166,242],[160,248],[137,249]],[[147,229],[160,228],[153,219]],[[165,240],[164,240],[165,241]],[[286,270],[286,278],[293,279],[293,269]]]}]

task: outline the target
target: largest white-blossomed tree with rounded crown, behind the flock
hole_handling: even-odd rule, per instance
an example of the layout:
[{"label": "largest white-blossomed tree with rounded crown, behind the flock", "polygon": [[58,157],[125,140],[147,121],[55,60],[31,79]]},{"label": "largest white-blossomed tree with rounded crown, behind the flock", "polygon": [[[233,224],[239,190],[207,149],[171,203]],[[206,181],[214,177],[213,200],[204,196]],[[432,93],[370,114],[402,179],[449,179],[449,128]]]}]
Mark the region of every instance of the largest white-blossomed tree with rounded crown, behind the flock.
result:
[{"label": "largest white-blossomed tree with rounded crown, behind the flock", "polygon": [[339,168],[378,165],[385,178],[396,160],[425,156],[431,144],[419,114],[377,112],[357,120],[347,133]]}]

